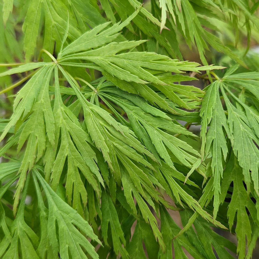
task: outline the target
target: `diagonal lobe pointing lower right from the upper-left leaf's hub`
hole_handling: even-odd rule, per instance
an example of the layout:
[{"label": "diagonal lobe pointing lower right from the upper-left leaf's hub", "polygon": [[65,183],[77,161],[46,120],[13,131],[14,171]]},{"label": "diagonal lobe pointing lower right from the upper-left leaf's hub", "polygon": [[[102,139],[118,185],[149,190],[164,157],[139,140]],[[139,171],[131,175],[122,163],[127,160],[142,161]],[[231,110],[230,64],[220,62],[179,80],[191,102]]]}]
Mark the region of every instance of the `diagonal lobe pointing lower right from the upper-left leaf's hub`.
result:
[{"label": "diagonal lobe pointing lower right from the upper-left leaf's hub", "polygon": [[126,166],[128,163],[133,166],[131,160],[134,160],[152,168],[150,163],[139,153],[146,154],[155,160],[154,155],[135,138],[134,133],[128,127],[118,123],[107,111],[88,102],[66,72],[61,67],[60,69],[80,100],[87,130],[96,147],[102,151],[109,167],[115,173],[116,181],[120,182],[120,169],[116,154],[120,156],[120,161]]}]

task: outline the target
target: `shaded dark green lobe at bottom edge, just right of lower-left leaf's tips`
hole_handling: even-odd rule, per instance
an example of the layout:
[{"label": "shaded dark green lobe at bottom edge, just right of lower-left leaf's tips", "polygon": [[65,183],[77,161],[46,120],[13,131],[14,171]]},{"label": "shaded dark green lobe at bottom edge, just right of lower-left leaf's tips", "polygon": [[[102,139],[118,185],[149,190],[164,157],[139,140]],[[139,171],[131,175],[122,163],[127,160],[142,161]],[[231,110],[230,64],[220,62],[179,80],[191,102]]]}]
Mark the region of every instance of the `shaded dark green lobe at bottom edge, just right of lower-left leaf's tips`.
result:
[{"label": "shaded dark green lobe at bottom edge, just right of lower-left leaf's tips", "polygon": [[113,249],[115,253],[118,255],[121,254],[122,258],[129,258],[128,252],[122,246],[126,245],[126,240],[124,238],[123,231],[121,229],[121,225],[118,218],[118,213],[116,208],[112,203],[112,199],[106,192],[102,192],[102,235],[104,238],[104,242],[107,243],[108,237],[108,224],[110,223],[111,235],[112,235],[112,243]]}]

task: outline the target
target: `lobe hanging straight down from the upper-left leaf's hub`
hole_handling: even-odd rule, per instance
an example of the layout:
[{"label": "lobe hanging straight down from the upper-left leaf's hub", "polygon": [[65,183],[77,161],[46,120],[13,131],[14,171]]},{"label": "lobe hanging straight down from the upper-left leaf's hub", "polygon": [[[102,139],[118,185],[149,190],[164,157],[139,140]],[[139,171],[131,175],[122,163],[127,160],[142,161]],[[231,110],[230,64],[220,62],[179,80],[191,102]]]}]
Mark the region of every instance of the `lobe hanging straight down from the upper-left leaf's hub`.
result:
[{"label": "lobe hanging straight down from the upper-left leaf's hub", "polygon": [[[57,67],[55,67],[54,117],[56,143],[54,148],[52,145],[48,146],[44,156],[46,179],[49,178],[50,171],[52,171],[52,186],[55,189],[66,162],[66,194],[69,202],[73,199],[73,208],[82,214],[81,199],[85,205],[87,192],[81,173],[97,193],[99,193],[99,185],[96,180],[98,179],[98,182],[103,184],[103,179],[96,164],[95,152],[88,144],[91,143],[89,135],[82,129],[73,112],[63,104],[59,90]],[[60,145],[57,142],[59,138]]]}]

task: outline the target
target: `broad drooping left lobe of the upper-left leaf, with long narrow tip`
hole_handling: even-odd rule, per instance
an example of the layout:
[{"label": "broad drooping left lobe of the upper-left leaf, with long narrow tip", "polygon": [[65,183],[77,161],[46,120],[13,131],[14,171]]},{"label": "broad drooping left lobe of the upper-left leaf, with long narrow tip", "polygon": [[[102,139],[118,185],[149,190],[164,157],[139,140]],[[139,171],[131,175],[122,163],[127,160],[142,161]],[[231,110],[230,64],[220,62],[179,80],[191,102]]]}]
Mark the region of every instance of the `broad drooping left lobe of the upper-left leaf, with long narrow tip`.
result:
[{"label": "broad drooping left lobe of the upper-left leaf, with long narrow tip", "polygon": [[[21,66],[20,71],[23,69],[31,69],[31,66]],[[20,191],[23,189],[24,181],[26,179],[27,170],[33,167],[36,149],[38,147],[38,159],[42,156],[46,146],[46,131],[48,131],[49,141],[54,143],[54,127],[53,127],[53,112],[50,105],[48,86],[50,76],[52,74],[52,64],[42,67],[28,83],[18,92],[14,102],[14,112],[10,118],[10,122],[5,127],[1,135],[4,138],[9,129],[14,126],[17,121],[24,120],[29,113],[32,112],[30,118],[26,121],[27,127],[21,132],[19,139],[19,149],[23,146],[24,142],[29,136],[24,159],[20,167],[21,176],[17,184],[17,191],[15,193],[14,213],[19,202]],[[17,70],[13,70],[17,71]],[[7,71],[13,73],[13,71]],[[46,124],[46,126],[45,126]]]}]

